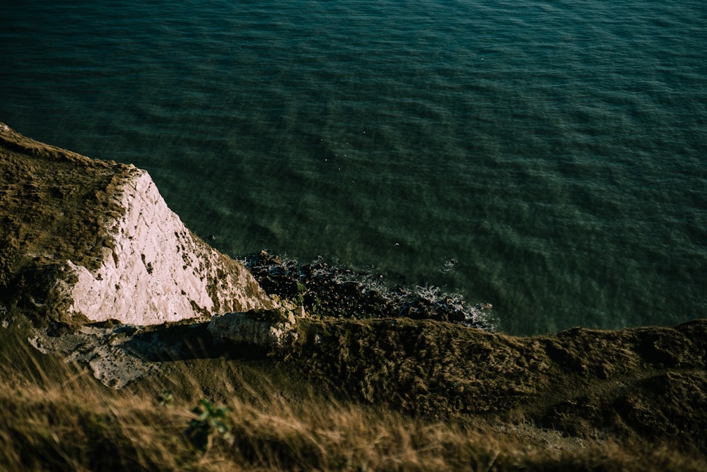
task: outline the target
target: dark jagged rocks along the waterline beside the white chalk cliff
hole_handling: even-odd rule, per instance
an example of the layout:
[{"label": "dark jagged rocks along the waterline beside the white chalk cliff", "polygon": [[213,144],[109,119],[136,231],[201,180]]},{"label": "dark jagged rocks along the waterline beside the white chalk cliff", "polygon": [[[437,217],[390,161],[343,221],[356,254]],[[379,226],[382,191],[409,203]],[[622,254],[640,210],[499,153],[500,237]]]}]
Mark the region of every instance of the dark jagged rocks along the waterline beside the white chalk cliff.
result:
[{"label": "dark jagged rocks along the waterline beside the white chalk cliff", "polygon": [[324,261],[284,261],[267,251],[247,257],[245,266],[267,293],[293,300],[315,317],[434,319],[493,331],[490,304],[469,306],[436,288],[391,289],[370,274]]}]

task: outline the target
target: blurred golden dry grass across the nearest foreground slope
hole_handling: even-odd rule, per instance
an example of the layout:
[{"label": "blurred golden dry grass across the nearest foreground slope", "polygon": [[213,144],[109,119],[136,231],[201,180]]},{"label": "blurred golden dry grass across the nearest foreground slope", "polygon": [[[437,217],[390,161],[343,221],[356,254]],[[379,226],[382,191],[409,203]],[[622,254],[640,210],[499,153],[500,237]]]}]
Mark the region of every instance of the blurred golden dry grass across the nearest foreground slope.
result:
[{"label": "blurred golden dry grass across the nearest foreground slope", "polygon": [[[3,341],[6,341],[4,339]],[[8,346],[6,343],[4,346]],[[6,353],[4,349],[3,353]],[[702,456],[645,442],[578,440],[524,423],[425,420],[341,401],[276,374],[220,360],[204,384],[175,362],[164,377],[106,389],[31,348],[0,368],[0,468],[25,471],[698,471]],[[273,367],[273,365],[271,365]],[[250,370],[249,370],[250,369]],[[180,385],[174,394],[166,388]],[[218,391],[218,393],[216,393]],[[228,435],[185,431],[209,393]],[[226,410],[228,408],[228,411]]]}]

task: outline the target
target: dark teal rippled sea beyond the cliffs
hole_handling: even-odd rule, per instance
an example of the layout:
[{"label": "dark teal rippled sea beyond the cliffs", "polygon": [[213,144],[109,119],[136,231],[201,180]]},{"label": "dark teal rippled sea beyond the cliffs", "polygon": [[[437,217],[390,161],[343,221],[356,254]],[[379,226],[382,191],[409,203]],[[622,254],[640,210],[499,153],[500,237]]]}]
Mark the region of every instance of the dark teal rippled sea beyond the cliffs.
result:
[{"label": "dark teal rippled sea beyond the cliffs", "polygon": [[704,0],[6,1],[0,121],[507,333],[707,317]]}]

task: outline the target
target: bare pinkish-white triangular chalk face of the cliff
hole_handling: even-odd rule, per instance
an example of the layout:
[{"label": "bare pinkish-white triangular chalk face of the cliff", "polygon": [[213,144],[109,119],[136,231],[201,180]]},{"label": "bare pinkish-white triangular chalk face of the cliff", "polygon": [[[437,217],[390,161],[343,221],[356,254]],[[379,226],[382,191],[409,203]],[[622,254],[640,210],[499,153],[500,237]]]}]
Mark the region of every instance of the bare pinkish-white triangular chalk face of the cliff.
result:
[{"label": "bare pinkish-white triangular chalk face of the cliff", "polygon": [[245,267],[192,235],[148,172],[133,172],[120,193],[126,212],[103,265],[68,263],[78,277],[71,312],[146,325],[272,306]]}]

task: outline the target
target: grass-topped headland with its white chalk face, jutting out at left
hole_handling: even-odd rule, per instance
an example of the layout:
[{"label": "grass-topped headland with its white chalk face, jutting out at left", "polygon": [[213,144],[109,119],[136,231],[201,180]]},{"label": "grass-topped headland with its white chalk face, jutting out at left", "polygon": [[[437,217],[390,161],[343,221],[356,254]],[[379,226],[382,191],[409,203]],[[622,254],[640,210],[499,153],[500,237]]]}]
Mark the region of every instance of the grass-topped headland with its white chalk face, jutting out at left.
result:
[{"label": "grass-topped headland with its white chalk face, jutting out at left", "polygon": [[0,124],[0,303],[61,321],[150,325],[273,301],[192,234],[148,172]]}]

